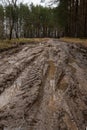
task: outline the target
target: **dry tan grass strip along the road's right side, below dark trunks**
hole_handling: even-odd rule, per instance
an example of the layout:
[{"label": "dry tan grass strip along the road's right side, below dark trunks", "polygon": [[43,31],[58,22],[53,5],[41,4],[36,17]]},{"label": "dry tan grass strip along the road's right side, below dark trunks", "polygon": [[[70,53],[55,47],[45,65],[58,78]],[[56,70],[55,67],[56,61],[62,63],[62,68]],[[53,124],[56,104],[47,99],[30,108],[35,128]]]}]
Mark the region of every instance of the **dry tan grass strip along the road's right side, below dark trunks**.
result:
[{"label": "dry tan grass strip along the road's right side, below dark trunks", "polygon": [[59,41],[82,44],[87,47],[87,39],[64,37],[64,38],[60,38]]}]

